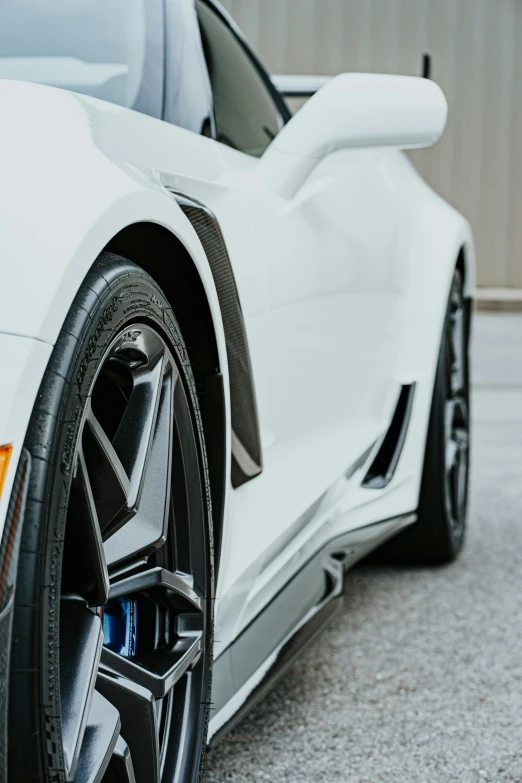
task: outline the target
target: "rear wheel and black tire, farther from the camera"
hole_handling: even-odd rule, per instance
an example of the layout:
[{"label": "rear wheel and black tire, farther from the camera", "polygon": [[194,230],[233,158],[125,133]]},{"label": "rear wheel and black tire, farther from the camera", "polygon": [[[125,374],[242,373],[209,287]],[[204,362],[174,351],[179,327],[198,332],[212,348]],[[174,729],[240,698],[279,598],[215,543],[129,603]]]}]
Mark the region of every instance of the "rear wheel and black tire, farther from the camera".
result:
[{"label": "rear wheel and black tire, farther from the camera", "polygon": [[[464,298],[462,273],[457,269],[437,364],[418,521],[385,544],[377,553],[379,560],[449,563],[464,544],[469,477],[469,332],[470,302]],[[453,469],[448,457],[452,453],[460,460]]]}]

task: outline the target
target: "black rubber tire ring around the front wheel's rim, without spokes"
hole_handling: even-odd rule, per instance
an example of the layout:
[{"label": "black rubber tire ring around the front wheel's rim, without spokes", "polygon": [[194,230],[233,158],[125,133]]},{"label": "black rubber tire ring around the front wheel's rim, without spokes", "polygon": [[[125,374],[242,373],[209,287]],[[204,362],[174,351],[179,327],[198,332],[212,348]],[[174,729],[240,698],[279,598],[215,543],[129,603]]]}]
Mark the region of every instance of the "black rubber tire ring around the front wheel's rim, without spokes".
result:
[{"label": "black rubber tire ring around the front wheel's rim, without spokes", "polygon": [[[206,549],[209,555],[209,600],[205,615],[209,661],[211,656],[213,550],[210,490],[203,427],[190,362],[176,319],[161,289],[132,262],[112,254],[103,254],[78,292],[60,333],[40,387],[25,444],[31,454],[36,453],[37,459],[42,456],[42,447],[45,451],[45,458],[38,461],[37,476],[43,500],[39,514],[42,564],[38,647],[41,662],[41,731],[47,756],[47,774],[52,780],[65,780],[60,722],[59,606],[67,508],[75,469],[76,445],[85,406],[107,349],[118,333],[138,321],[162,333],[170,345],[190,401],[193,426],[197,433],[202,492],[206,505]],[[58,380],[60,378],[61,384]],[[47,410],[42,410],[42,401],[47,402],[44,404]],[[49,414],[56,419],[54,433],[50,442],[43,442],[41,436],[49,430]],[[28,501],[30,503],[31,499]],[[33,518],[34,524],[38,524],[38,520]],[[24,532],[22,549],[23,537]],[[23,568],[22,552],[19,572]],[[204,680],[202,705],[209,702],[210,662]],[[205,730],[208,715],[201,715],[200,721]],[[197,780],[198,777],[199,769],[193,779]]]}]

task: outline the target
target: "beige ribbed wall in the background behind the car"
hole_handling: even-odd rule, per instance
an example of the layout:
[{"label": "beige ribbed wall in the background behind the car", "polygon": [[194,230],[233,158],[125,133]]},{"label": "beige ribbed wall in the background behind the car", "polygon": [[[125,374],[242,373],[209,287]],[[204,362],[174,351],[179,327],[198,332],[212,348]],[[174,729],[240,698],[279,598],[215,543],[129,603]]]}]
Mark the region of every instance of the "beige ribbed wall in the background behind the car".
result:
[{"label": "beige ribbed wall in the background behind the car", "polygon": [[471,221],[479,283],[522,288],[522,0],[222,0],[274,73],[418,75],[446,92],[442,142],[412,155]]}]

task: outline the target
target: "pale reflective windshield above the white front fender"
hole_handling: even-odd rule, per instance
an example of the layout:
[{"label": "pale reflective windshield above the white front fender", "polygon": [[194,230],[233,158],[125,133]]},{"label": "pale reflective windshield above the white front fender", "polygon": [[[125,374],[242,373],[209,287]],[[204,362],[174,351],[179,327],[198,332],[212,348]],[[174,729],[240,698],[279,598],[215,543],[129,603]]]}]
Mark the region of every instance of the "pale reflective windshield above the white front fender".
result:
[{"label": "pale reflective windshield above the white front fender", "polygon": [[161,0],[2,0],[0,78],[161,116]]}]

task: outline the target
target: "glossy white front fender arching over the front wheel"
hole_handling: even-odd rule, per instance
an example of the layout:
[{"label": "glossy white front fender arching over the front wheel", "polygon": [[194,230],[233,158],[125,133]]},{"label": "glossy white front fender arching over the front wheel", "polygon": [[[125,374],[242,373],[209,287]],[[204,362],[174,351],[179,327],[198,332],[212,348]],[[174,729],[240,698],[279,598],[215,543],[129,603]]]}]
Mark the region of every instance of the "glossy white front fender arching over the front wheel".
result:
[{"label": "glossy white front fender arching over the front wheel", "polygon": [[[0,81],[0,101],[5,111],[0,129],[0,332],[54,344],[81,281],[107,242],[133,223],[157,223],[180,238],[201,276],[228,416],[228,365],[212,274],[196,233],[156,173],[175,171],[179,181],[188,182],[191,195],[212,189],[225,169],[218,145],[50,87]],[[213,192],[219,201],[223,188]],[[175,272],[175,258],[166,263]],[[251,286],[242,291],[246,312],[252,303],[254,309],[263,307],[255,275]],[[39,384],[43,367],[35,363],[33,372]],[[10,437],[2,427],[0,442]],[[0,527],[3,522],[2,516]]]}]

